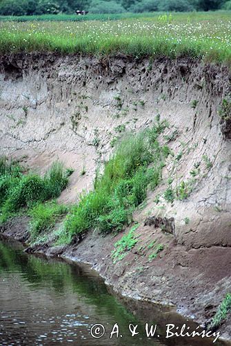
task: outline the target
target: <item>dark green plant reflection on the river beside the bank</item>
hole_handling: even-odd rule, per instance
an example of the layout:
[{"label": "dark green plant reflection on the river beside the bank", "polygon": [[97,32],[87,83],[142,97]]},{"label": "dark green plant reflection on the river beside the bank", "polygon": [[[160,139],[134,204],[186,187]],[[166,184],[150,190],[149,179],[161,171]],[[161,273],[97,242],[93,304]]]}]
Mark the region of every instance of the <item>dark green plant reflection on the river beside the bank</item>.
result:
[{"label": "dark green plant reflection on the river beside the bank", "polygon": [[[18,290],[24,289],[25,284],[34,291],[47,289],[48,294],[59,297],[65,292],[72,292],[81,301],[86,301],[90,309],[99,315],[108,315],[112,320],[118,320],[126,325],[128,320],[136,322],[137,319],[129,313],[108,289],[101,278],[92,276],[89,271],[77,265],[67,264],[60,260],[48,260],[45,257],[27,255],[20,248],[1,241],[0,238],[0,273],[22,274],[23,284]],[[28,285],[29,284],[29,285]],[[18,292],[20,294],[20,292]]]}]

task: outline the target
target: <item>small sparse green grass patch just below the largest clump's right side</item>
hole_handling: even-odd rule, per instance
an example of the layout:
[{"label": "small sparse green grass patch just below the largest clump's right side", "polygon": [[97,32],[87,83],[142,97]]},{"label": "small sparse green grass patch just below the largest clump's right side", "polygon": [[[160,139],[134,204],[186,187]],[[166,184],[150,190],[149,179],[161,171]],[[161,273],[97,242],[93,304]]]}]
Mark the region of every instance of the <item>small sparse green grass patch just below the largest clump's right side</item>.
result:
[{"label": "small sparse green grass patch just below the largest clump's right side", "polygon": [[138,242],[137,237],[134,235],[134,231],[139,227],[139,224],[134,225],[127,235],[123,235],[121,239],[114,244],[114,251],[112,251],[112,259],[113,262],[116,263],[118,261],[123,260],[125,255],[128,254]]}]

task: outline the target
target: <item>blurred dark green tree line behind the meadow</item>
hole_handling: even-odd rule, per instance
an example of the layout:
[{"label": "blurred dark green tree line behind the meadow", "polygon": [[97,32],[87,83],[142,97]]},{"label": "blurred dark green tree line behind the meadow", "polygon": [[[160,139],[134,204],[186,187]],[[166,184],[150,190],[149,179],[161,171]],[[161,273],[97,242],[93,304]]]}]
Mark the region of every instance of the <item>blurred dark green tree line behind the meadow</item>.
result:
[{"label": "blurred dark green tree line behind the meadow", "polygon": [[231,0],[0,0],[0,15],[231,10]]}]

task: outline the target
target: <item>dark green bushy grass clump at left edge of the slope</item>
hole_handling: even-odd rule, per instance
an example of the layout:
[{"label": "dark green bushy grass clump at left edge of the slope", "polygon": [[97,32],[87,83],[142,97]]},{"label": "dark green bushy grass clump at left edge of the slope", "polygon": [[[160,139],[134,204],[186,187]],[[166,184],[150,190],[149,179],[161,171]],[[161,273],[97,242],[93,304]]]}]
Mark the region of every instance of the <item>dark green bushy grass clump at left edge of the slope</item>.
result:
[{"label": "dark green bushy grass clump at left edge of the slope", "polygon": [[6,170],[0,176],[0,222],[6,221],[21,208],[58,197],[67,184],[66,170],[61,163],[53,163],[44,177],[23,175],[19,166]]}]

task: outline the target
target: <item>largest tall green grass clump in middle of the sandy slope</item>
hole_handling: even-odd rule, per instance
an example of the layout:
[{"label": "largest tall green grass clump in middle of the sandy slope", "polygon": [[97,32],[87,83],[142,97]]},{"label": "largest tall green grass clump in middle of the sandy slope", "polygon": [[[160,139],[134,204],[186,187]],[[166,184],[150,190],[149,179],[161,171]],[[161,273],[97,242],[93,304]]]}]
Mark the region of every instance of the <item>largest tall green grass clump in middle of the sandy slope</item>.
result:
[{"label": "largest tall green grass clump in middle of the sandy slope", "polygon": [[165,151],[157,138],[166,125],[158,118],[152,129],[125,136],[103,174],[97,174],[94,191],[83,194],[68,215],[61,242],[71,242],[74,235],[91,229],[119,232],[130,223],[148,185],[155,188],[161,179]]}]

